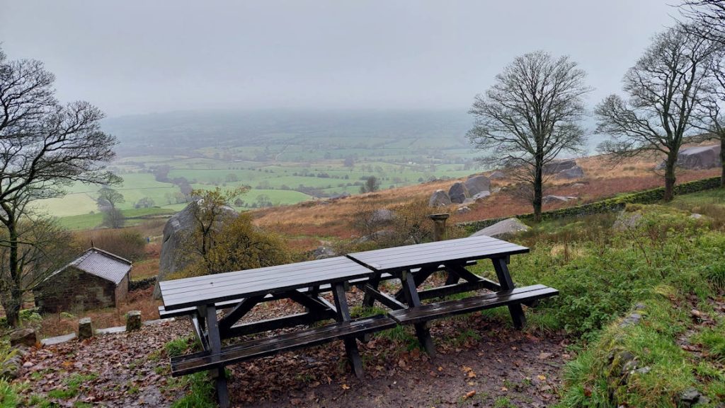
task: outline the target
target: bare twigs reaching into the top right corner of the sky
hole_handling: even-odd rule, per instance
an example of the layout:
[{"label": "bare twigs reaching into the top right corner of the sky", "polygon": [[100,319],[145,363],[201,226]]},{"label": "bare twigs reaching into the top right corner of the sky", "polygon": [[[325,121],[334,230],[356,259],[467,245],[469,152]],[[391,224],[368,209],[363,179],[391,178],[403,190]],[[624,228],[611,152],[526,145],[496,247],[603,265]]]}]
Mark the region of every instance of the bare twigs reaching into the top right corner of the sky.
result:
[{"label": "bare twigs reaching into the top right corner of the sky", "polygon": [[679,8],[692,22],[685,25],[691,33],[725,44],[725,0],[684,0]]}]

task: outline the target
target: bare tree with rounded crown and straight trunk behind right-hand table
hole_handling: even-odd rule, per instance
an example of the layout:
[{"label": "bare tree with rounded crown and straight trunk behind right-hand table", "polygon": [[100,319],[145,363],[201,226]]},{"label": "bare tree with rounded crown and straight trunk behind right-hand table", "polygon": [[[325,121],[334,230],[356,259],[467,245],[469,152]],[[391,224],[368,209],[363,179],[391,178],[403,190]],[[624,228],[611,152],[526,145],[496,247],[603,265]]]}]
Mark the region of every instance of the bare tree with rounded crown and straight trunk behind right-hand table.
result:
[{"label": "bare tree with rounded crown and straight trunk behind right-hand table", "polygon": [[544,165],[562,151],[579,152],[586,136],[586,72],[569,57],[544,51],[516,57],[486,95],[477,95],[469,113],[475,117],[468,138],[486,152],[487,165],[504,167],[531,185],[534,215],[541,220]]}]

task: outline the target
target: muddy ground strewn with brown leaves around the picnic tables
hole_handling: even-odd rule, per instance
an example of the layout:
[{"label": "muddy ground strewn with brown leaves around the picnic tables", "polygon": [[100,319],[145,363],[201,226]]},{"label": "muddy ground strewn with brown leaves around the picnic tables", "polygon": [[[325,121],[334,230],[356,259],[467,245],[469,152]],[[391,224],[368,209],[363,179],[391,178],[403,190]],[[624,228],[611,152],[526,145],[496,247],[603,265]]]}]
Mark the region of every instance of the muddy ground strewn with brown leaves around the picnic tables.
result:
[{"label": "muddy ground strewn with brown leaves around the picnic tables", "polygon": [[[501,326],[481,315],[436,322],[434,362],[410,346],[405,330],[376,337],[360,346],[362,381],[347,370],[340,342],[233,365],[233,406],[551,406],[568,358],[566,341]],[[36,394],[37,401],[61,407],[170,407],[185,390],[170,377],[162,349],[188,333],[186,321],[165,322],[49,346],[28,355],[18,381],[29,384],[25,398]]]}]

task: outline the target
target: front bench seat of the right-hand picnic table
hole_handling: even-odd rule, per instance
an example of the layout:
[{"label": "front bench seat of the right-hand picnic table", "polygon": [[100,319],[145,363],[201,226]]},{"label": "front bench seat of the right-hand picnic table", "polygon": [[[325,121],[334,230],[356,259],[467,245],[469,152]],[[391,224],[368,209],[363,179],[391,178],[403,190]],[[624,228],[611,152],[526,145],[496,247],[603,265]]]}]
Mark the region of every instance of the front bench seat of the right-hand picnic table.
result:
[{"label": "front bench seat of the right-hand picnic table", "polygon": [[486,293],[481,296],[473,296],[466,299],[423,304],[418,307],[394,310],[389,312],[388,315],[400,324],[415,324],[449,315],[461,315],[511,304],[525,304],[558,294],[559,291],[555,288],[544,285],[533,285],[515,288],[513,291]]}]

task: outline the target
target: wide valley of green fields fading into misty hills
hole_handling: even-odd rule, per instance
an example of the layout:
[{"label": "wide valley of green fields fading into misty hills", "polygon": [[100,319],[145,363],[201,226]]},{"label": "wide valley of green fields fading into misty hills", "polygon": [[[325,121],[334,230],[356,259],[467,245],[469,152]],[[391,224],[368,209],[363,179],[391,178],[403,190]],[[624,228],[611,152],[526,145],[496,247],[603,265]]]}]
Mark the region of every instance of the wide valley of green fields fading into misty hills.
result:
[{"label": "wide valley of green fields fading into misty hills", "polygon": [[[181,184],[191,188],[250,186],[239,209],[296,204],[358,193],[375,176],[380,188],[460,178],[481,170],[465,140],[465,112],[175,112],[107,120],[118,158],[109,169],[133,209],[140,199],[182,209]],[[159,177],[159,169],[165,176]],[[68,225],[91,225],[100,215],[100,186],[70,186],[36,209]],[[78,221],[82,220],[82,221]],[[92,227],[91,227],[92,228]]]}]

